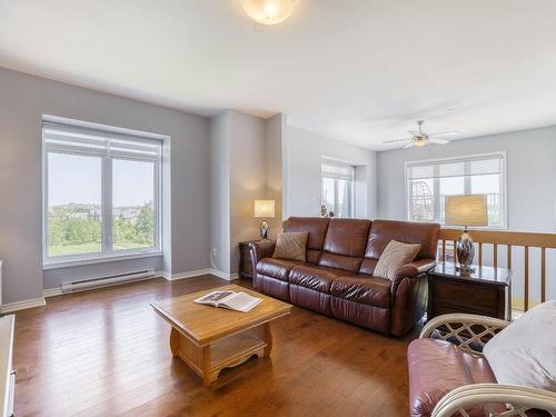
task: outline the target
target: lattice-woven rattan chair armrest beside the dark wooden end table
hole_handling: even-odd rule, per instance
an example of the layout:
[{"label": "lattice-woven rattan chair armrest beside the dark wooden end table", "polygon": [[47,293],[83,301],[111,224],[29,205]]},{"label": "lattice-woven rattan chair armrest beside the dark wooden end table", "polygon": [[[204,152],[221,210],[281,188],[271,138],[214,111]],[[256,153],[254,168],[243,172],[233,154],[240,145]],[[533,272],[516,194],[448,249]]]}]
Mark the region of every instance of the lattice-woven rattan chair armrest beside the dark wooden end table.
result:
[{"label": "lattice-woven rattan chair armrest beside the dark wooden end table", "polygon": [[419,338],[448,340],[471,354],[483,355],[483,348],[509,321],[494,317],[449,314],[435,317],[423,328]]}]

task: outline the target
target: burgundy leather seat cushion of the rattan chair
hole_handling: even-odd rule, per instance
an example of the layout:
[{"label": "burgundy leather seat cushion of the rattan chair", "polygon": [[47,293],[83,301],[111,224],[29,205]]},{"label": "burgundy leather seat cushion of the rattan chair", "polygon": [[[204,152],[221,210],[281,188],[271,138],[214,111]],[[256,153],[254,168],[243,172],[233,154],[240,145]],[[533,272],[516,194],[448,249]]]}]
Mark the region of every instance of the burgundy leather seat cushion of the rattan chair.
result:
[{"label": "burgundy leather seat cushion of the rattan chair", "polygon": [[[468,384],[496,384],[485,358],[467,354],[449,341],[411,341],[407,349],[407,364],[411,417],[430,416],[436,404],[455,388]],[[484,416],[481,409],[467,411],[469,416]]]}]

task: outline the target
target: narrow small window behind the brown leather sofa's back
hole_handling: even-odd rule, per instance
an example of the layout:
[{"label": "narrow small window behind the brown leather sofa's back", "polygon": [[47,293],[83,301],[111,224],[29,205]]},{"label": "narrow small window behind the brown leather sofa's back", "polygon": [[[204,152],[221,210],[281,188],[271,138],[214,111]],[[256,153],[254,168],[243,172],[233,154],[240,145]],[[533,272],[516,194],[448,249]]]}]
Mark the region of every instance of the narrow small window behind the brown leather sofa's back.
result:
[{"label": "narrow small window behind the brown leather sofa's back", "polygon": [[322,161],[322,206],[335,217],[354,217],[354,167]]}]

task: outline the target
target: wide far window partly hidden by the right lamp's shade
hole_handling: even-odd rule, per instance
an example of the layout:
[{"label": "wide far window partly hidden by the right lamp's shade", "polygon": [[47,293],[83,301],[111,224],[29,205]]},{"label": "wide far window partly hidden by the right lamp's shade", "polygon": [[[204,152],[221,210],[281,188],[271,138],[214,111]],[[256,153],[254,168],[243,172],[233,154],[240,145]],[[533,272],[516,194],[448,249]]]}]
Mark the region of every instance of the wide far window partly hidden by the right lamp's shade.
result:
[{"label": "wide far window partly hidden by the right lamp's shade", "polygon": [[407,163],[407,218],[444,224],[446,196],[487,196],[488,227],[506,227],[505,153]]}]

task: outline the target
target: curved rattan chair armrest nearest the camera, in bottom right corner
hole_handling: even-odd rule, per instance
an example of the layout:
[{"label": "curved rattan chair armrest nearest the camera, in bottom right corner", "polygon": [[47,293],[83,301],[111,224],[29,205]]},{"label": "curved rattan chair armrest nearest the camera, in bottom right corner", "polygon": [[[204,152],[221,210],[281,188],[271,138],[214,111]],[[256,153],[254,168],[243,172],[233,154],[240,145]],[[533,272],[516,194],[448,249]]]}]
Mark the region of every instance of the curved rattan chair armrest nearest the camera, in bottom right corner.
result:
[{"label": "curved rattan chair armrest nearest the camera, in bottom right corner", "polygon": [[[496,409],[493,407],[495,405],[498,405]],[[556,393],[517,385],[465,385],[446,394],[435,406],[430,416],[468,416],[465,409],[477,406],[489,410],[489,415],[493,417],[526,416],[526,411],[529,409],[545,410],[554,415],[556,413]]]}]

